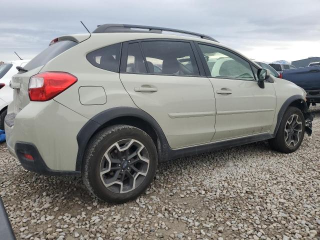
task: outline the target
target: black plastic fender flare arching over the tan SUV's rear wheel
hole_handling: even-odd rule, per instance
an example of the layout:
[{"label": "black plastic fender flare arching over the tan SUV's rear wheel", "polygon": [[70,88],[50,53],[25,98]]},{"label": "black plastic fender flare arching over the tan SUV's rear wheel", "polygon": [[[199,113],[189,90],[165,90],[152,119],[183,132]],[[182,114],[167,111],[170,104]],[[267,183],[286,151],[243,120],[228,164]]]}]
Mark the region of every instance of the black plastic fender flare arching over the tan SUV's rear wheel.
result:
[{"label": "black plastic fender flare arching over the tan SUV's rear wheel", "polygon": [[165,161],[168,159],[169,145],[166,140],[166,137],[157,123],[157,121],[150,116],[147,112],[141,110],[140,108],[135,107],[113,107],[107,110],[101,111],[100,113],[94,115],[90,120],[88,120],[80,129],[76,135],[76,140],[78,143],[78,152],[76,156],[75,170],[81,171],[82,160],[84,156],[84,151],[86,145],[92,135],[103,127],[108,121],[122,116],[134,116],[148,122],[152,128],[155,130],[158,141],[160,143],[160,149],[158,149],[159,161]]}]

